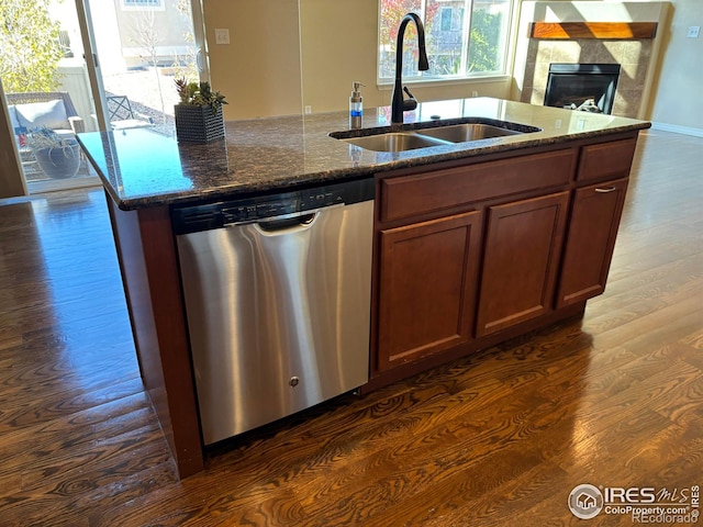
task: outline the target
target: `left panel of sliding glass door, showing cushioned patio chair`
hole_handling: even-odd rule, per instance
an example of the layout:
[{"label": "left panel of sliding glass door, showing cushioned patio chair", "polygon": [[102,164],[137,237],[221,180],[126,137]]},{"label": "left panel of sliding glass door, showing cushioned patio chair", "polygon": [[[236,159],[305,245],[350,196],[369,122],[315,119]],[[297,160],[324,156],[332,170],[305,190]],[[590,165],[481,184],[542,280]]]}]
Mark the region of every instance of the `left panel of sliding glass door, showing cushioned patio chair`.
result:
[{"label": "left panel of sliding glass door, showing cushioned patio chair", "polygon": [[76,5],[9,0],[0,16],[0,79],[26,188],[97,181],[76,142],[77,133],[98,130]]}]

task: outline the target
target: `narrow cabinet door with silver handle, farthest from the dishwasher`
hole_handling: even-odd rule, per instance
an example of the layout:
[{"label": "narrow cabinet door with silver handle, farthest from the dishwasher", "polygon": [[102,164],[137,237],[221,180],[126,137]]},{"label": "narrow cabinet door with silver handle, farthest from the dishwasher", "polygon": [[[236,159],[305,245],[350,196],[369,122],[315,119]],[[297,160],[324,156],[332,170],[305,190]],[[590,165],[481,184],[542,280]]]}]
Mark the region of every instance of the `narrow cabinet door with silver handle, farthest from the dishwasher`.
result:
[{"label": "narrow cabinet door with silver handle, farthest from the dishwasher", "polygon": [[557,294],[557,307],[583,302],[605,290],[627,179],[578,189]]}]

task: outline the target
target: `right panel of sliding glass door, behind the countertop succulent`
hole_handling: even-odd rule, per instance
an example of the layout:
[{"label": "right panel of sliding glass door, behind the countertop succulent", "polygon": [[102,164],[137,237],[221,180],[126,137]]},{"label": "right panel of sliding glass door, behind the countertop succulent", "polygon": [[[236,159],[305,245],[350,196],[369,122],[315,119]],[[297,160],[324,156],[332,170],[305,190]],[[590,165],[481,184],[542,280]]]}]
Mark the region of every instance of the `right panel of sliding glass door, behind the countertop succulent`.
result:
[{"label": "right panel of sliding glass door, behind the countertop succulent", "polygon": [[203,38],[191,1],[89,0],[88,7],[108,126],[174,135],[174,80],[201,77]]}]

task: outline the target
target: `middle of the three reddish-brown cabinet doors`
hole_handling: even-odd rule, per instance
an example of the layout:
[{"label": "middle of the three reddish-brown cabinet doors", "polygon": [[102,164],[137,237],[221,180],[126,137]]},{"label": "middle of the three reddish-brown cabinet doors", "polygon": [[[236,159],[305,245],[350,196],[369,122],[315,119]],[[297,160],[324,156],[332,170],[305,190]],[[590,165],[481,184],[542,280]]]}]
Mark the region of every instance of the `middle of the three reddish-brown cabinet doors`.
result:
[{"label": "middle of the three reddish-brown cabinet doors", "polygon": [[551,311],[568,195],[490,208],[477,336]]}]

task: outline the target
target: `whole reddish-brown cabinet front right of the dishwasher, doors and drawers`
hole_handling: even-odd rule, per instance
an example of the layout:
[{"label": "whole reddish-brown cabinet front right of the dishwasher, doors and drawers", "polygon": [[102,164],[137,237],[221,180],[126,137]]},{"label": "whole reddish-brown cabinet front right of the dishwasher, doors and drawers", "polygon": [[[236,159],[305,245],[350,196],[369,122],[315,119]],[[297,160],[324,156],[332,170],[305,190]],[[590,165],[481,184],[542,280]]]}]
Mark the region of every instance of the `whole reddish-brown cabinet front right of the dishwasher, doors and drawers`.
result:
[{"label": "whole reddish-brown cabinet front right of the dishwasher, doors and drawers", "polygon": [[582,314],[605,287],[636,144],[379,175],[371,389]]}]

